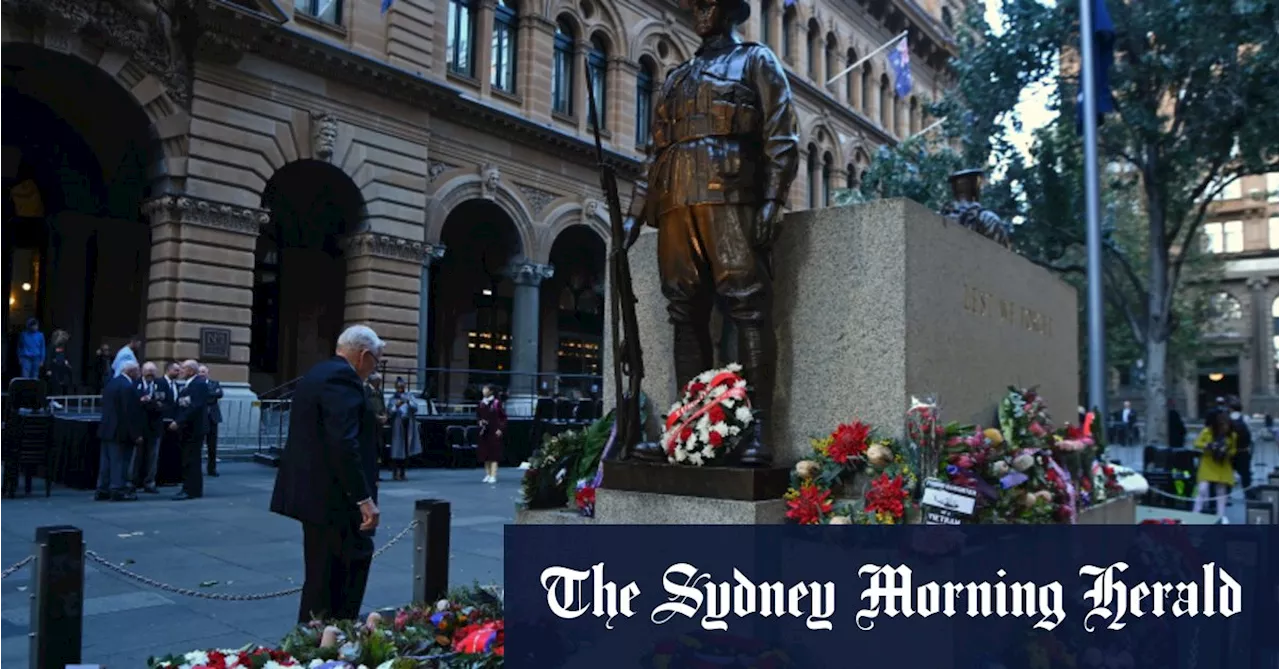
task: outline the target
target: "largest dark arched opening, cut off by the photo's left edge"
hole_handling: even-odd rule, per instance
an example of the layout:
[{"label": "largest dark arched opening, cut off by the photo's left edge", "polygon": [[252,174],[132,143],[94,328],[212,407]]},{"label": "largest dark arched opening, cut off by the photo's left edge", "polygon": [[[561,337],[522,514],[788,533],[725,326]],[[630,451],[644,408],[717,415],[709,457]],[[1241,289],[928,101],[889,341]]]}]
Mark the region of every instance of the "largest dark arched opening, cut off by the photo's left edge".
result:
[{"label": "largest dark arched opening, cut off by the photo's left edge", "polygon": [[101,344],[143,333],[151,243],[140,209],[163,178],[160,156],[146,114],[105,73],[37,46],[0,47],[5,381],[27,319],[46,338],[69,335],[73,388],[63,393],[96,385]]}]

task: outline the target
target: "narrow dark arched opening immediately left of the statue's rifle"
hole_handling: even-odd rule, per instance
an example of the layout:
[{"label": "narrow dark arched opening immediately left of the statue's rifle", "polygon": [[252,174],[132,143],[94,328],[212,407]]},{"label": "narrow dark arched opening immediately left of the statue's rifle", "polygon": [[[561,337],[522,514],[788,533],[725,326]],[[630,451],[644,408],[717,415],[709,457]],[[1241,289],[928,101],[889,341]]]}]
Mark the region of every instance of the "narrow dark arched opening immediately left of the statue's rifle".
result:
[{"label": "narrow dark arched opening immediately left of the statue's rifle", "polygon": [[556,370],[559,395],[599,397],[604,365],[605,247],[586,225],[552,243],[556,275],[543,283],[543,368]]}]

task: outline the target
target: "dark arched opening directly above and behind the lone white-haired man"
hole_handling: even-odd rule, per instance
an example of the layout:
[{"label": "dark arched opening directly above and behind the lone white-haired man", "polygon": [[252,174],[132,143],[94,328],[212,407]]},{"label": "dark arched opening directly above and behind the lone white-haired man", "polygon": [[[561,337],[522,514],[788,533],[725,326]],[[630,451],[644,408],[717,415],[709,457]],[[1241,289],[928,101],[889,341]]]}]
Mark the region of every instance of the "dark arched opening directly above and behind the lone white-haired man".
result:
[{"label": "dark arched opening directly above and behind the lone white-haired man", "polygon": [[250,384],[260,395],[333,354],[346,308],[340,244],[364,220],[365,201],[338,168],[300,160],[266,183],[262,209],[271,223],[257,238],[250,343]]}]

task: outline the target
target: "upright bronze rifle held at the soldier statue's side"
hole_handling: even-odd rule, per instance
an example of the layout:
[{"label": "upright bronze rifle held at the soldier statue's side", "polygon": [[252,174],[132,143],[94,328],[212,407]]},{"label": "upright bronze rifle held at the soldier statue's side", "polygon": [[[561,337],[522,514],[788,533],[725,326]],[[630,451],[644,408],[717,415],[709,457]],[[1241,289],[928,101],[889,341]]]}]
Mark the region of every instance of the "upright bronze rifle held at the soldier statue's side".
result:
[{"label": "upright bronze rifle held at the soldier statue's side", "polygon": [[[640,350],[640,322],[636,320],[636,295],[631,287],[631,264],[627,260],[627,230],[618,198],[618,178],[604,160],[600,142],[600,114],[591,81],[591,61],[585,60],[588,120],[595,133],[595,159],[600,169],[600,189],[609,207],[609,321],[613,339],[614,446],[620,459],[631,455],[640,443],[640,381],[644,379],[644,356]],[[639,225],[639,223],[636,223]],[[626,386],[623,388],[623,379]]]}]

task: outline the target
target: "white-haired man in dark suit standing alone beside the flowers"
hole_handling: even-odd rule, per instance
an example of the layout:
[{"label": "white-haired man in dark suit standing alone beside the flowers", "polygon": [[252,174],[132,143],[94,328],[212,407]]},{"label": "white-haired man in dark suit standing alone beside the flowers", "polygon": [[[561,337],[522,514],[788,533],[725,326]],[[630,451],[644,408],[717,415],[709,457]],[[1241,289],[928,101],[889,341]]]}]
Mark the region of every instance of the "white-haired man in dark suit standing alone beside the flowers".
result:
[{"label": "white-haired man in dark suit standing alone beside the flowers", "polygon": [[306,581],[298,622],[355,619],[365,599],[378,527],[376,467],[367,448],[375,425],[364,380],[385,344],[364,325],[338,338],[333,358],[298,381],[289,437],[275,475],[271,512],[302,523]]}]

